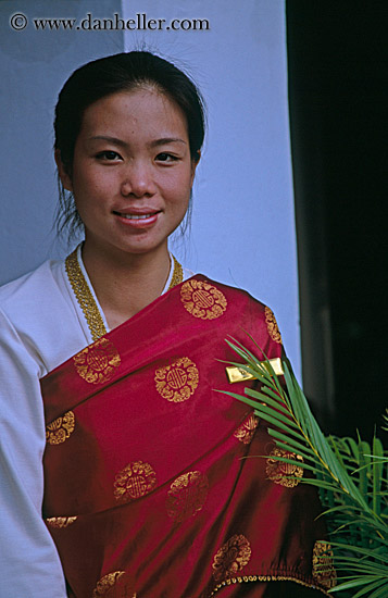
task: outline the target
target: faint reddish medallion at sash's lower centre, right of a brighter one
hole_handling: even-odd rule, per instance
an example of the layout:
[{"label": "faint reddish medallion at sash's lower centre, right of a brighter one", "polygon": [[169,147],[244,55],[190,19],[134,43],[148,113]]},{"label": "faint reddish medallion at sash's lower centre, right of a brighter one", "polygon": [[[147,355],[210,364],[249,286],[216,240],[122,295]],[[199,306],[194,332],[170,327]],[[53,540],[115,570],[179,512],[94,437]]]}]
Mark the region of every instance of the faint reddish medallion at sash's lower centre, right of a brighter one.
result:
[{"label": "faint reddish medallion at sash's lower centre, right of a brighter one", "polygon": [[199,472],[179,475],[172,483],[166,501],[168,515],[180,523],[201,511],[209,490],[208,477]]}]

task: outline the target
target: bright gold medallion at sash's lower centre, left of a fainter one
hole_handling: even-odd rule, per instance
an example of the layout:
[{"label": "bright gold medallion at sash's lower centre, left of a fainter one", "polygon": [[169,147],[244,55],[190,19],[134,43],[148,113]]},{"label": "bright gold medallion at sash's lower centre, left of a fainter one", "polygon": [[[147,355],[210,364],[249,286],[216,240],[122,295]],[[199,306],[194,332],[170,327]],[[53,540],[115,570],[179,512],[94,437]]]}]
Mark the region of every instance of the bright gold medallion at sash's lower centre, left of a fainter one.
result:
[{"label": "bright gold medallion at sash's lower centre, left of a fainter one", "polygon": [[134,461],[116,474],[114,498],[118,502],[130,502],[148,495],[157,485],[157,474],[149,463]]}]

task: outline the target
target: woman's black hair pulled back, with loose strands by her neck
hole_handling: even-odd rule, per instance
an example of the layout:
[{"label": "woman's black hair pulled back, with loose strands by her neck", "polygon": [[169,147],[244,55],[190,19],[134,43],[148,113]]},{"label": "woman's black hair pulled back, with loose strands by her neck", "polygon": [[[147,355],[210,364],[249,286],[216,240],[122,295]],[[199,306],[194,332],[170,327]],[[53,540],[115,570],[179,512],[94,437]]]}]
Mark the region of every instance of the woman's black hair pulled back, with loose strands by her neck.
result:
[{"label": "woman's black hair pulled back, with loose strands by her neck", "polygon": [[[187,121],[190,155],[192,160],[199,160],[205,119],[203,100],[197,86],[174,64],[151,52],[123,52],[80,66],[60,91],[55,107],[54,148],[61,152],[61,160],[70,176],[85,110],[112,94],[145,86],[164,94],[183,110]],[[82,227],[82,221],[72,194],[66,192],[60,182],[59,190],[57,227],[61,233],[68,226],[70,236],[73,236]]]}]

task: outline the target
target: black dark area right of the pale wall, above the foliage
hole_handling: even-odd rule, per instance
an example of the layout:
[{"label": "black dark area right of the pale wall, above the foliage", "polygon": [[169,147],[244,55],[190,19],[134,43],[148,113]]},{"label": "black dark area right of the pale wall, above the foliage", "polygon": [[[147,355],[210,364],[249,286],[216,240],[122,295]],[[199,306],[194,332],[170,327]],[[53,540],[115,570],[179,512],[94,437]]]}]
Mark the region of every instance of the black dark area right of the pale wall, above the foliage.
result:
[{"label": "black dark area right of the pale wall, above the foliage", "polygon": [[304,389],[326,432],[388,406],[388,1],[288,0]]}]

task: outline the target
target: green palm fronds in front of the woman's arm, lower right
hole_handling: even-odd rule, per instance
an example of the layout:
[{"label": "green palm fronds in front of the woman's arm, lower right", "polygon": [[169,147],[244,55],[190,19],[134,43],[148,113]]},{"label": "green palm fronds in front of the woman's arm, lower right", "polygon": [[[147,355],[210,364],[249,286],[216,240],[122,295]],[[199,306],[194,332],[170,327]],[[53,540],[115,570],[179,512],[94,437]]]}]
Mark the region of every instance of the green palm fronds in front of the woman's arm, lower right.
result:
[{"label": "green palm fronds in front of the woman's arm, lower right", "polygon": [[[352,598],[387,598],[388,457],[381,441],[376,435],[372,444],[360,437],[326,437],[286,361],[284,388],[270,361],[259,363],[235,339],[226,342],[242,360],[234,365],[262,383],[260,390],[246,388],[245,395],[226,394],[267,422],[276,445],[291,453],[291,458],[278,460],[314,475],[300,482],[317,487],[325,509],[340,581],[330,591]],[[388,410],[384,419],[388,424]]]}]

